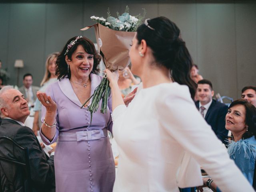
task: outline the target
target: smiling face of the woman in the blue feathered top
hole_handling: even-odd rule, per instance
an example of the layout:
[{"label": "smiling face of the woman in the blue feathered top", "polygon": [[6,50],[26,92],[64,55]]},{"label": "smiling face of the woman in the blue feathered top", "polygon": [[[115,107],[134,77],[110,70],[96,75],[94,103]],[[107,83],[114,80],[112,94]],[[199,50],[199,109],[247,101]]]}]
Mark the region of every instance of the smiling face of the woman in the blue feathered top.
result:
[{"label": "smiling face of the woman in the blue feathered top", "polygon": [[232,106],[228,109],[226,114],[226,126],[227,130],[235,134],[243,134],[246,132],[246,110],[241,104]]}]

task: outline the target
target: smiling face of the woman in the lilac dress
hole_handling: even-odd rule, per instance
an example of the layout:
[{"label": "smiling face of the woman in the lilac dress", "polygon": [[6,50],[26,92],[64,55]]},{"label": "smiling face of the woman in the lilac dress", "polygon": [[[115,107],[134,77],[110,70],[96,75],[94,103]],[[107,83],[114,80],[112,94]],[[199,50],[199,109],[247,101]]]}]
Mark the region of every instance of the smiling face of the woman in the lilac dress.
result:
[{"label": "smiling face of the woman in the lilac dress", "polygon": [[66,56],[66,62],[70,66],[72,78],[86,80],[92,72],[94,59],[93,54],[88,54],[82,45],[78,45],[71,60]]}]

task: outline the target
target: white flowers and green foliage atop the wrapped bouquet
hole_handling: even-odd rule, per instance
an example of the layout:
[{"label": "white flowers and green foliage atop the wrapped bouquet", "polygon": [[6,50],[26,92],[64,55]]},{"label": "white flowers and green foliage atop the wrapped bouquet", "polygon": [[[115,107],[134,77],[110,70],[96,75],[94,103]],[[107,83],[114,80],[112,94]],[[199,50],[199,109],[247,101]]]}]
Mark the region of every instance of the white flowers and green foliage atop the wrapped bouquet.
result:
[{"label": "white flowers and green foliage atop the wrapped bouquet", "polygon": [[125,12],[122,15],[117,12],[118,18],[115,18],[110,16],[110,10],[108,9],[108,18],[91,16],[91,19],[116,31],[135,32],[146,15],[146,10],[144,8],[142,10],[144,10],[143,16],[140,14],[131,16],[129,15],[129,7],[126,6]]}]

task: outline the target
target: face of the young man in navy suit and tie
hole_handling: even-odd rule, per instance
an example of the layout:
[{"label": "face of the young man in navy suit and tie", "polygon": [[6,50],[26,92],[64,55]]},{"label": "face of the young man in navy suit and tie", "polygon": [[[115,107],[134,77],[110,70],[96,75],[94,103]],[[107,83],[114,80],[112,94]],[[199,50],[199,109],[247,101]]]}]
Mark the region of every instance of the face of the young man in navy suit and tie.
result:
[{"label": "face of the young man in navy suit and tie", "polygon": [[209,84],[198,84],[196,94],[199,98],[200,103],[202,105],[206,105],[212,100],[212,96],[214,96],[214,91],[211,90]]}]

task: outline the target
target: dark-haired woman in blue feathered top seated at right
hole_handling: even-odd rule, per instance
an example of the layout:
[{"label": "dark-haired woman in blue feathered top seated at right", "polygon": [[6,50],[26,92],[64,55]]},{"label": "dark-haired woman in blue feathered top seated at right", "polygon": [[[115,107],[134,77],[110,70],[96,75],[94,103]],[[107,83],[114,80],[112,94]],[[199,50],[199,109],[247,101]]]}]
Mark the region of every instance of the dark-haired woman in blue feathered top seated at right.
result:
[{"label": "dark-haired woman in blue feathered top seated at right", "polygon": [[[234,140],[228,145],[228,154],[252,185],[256,156],[256,108],[245,100],[232,102],[226,114],[226,129]],[[220,192],[210,178],[204,178],[204,186]],[[200,191],[202,187],[200,187]]]}]

